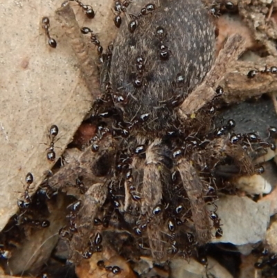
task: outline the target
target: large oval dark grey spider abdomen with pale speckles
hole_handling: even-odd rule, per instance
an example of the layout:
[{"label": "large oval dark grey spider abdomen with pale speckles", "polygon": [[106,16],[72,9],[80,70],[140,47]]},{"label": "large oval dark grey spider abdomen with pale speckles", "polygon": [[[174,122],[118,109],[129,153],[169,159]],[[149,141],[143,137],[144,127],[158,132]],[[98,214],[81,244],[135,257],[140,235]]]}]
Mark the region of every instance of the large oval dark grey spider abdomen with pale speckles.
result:
[{"label": "large oval dark grey spider abdomen with pale speckles", "polygon": [[[158,2],[158,1],[157,1]],[[150,113],[145,131],[161,134],[177,120],[174,108],[202,82],[214,60],[214,26],[200,0],[159,1],[155,10],[121,26],[111,58],[111,87],[127,99],[125,121]],[[138,15],[148,0],[136,1]],[[129,10],[128,10],[129,12]]]}]

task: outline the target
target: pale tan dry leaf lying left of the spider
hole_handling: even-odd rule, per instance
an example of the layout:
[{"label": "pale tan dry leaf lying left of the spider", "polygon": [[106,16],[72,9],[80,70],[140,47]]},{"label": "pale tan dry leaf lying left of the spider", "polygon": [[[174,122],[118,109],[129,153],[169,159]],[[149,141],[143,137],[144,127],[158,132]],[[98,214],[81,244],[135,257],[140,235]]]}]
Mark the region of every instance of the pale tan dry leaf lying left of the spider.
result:
[{"label": "pale tan dry leaf lying left of the spider", "polygon": [[[37,187],[53,166],[46,159],[48,130],[55,123],[59,157],[91,107],[92,94],[80,76],[78,60],[68,38],[56,21],[55,9],[62,1],[5,1],[1,7],[1,110],[0,110],[0,229],[17,211],[28,172]],[[95,19],[72,6],[81,26],[93,26],[105,47],[112,40],[111,0],[91,1]],[[42,17],[50,19],[50,35],[57,48],[47,44]],[[109,32],[103,31],[109,26]],[[86,39],[97,59],[96,49]],[[44,144],[45,143],[45,144]]]}]

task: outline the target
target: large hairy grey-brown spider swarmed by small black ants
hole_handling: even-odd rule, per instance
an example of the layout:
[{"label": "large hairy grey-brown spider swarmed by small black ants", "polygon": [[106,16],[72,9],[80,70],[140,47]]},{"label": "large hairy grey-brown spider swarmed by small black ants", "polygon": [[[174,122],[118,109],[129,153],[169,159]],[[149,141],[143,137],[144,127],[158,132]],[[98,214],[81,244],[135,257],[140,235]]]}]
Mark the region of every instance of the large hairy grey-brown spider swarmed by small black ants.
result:
[{"label": "large hairy grey-brown spider swarmed by small black ants", "polygon": [[[218,129],[213,124],[219,84],[244,50],[242,37],[231,35],[215,57],[213,17],[201,1],[151,5],[130,5],[102,54],[90,145],[48,179],[63,190],[69,180],[78,185],[81,178],[82,191],[87,184],[69,208],[68,229],[60,232],[74,263],[110,244],[111,226],[124,229],[130,245],[157,261],[168,253],[190,256],[193,246],[211,241],[213,223],[222,234],[220,219],[206,206],[222,182],[215,168],[230,164],[238,175],[252,175],[251,151],[264,144],[250,134],[232,140],[231,121]],[[70,12],[66,3],[59,11],[64,18]]]}]

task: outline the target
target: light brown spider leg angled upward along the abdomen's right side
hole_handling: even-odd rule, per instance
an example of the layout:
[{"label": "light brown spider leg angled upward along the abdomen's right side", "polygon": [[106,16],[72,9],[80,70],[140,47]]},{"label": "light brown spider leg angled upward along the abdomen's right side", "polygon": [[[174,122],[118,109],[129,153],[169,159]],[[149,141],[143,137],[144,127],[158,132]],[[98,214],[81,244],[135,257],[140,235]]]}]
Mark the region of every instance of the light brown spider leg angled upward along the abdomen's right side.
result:
[{"label": "light brown spider leg angled upward along the abdomen's right side", "polygon": [[216,96],[215,89],[218,87],[220,81],[229,72],[230,64],[238,58],[238,56],[245,50],[244,39],[238,35],[231,35],[224,48],[220,51],[215,60],[215,64],[207,73],[204,81],[199,85],[181,104],[179,114],[181,118],[187,119],[187,115],[197,112],[206,103],[209,103]]}]

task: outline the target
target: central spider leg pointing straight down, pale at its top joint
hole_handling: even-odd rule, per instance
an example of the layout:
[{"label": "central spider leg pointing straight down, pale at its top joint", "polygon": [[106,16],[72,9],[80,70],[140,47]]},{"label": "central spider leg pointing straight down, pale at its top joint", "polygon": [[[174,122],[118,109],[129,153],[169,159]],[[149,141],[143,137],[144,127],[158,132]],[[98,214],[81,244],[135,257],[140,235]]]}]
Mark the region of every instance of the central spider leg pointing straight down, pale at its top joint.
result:
[{"label": "central spider leg pointing straight down, pale at its top joint", "polygon": [[[148,215],[148,240],[152,256],[157,260],[166,255],[166,231],[163,231],[163,186],[169,186],[170,164],[166,164],[168,148],[161,145],[161,140],[154,140],[145,152],[143,166],[143,185],[141,189],[141,211]],[[167,159],[166,159],[167,158]],[[166,159],[166,160],[164,160]]]}]

